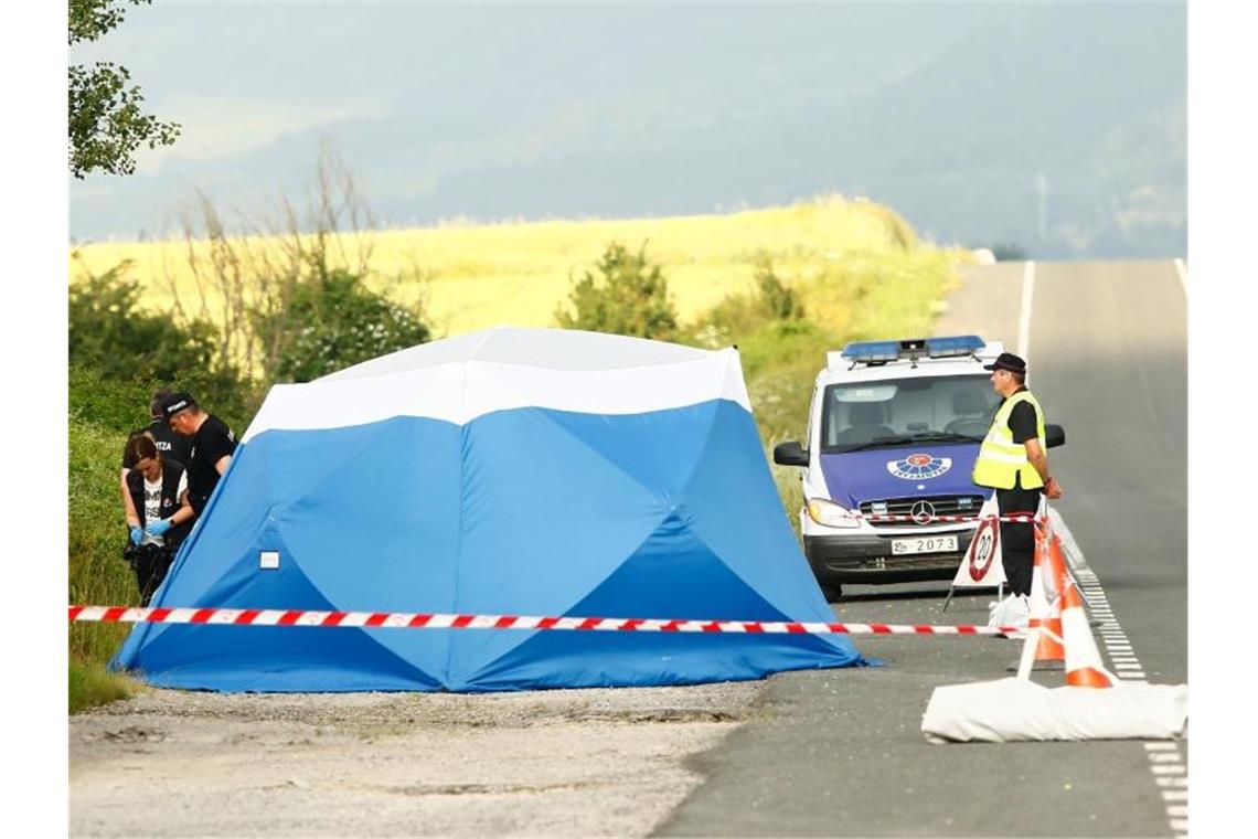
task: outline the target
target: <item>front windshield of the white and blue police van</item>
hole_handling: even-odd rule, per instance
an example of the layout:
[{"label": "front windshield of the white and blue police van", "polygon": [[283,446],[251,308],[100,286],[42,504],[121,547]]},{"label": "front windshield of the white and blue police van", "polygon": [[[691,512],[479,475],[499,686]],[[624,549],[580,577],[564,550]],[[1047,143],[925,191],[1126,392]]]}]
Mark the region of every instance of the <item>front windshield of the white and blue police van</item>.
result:
[{"label": "front windshield of the white and blue police van", "polygon": [[988,376],[830,385],[821,405],[821,452],[977,443],[999,404]]}]

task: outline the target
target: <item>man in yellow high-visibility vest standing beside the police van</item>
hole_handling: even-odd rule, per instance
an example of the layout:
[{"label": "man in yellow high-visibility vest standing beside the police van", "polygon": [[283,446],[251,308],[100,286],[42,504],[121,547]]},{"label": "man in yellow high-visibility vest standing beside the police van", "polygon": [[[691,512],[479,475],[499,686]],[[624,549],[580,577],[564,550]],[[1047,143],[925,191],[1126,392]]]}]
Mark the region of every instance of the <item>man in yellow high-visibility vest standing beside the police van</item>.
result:
[{"label": "man in yellow high-visibility vest standing beside the police van", "polygon": [[[991,389],[1003,400],[974,462],[974,483],[996,491],[1000,514],[1035,514],[1040,493],[1060,498],[1062,487],[1048,474],[1044,410],[1027,390],[1027,362],[1001,352],[991,371]],[[1005,577],[1014,594],[1029,595],[1035,560],[1035,532],[1030,522],[1000,522]]]}]

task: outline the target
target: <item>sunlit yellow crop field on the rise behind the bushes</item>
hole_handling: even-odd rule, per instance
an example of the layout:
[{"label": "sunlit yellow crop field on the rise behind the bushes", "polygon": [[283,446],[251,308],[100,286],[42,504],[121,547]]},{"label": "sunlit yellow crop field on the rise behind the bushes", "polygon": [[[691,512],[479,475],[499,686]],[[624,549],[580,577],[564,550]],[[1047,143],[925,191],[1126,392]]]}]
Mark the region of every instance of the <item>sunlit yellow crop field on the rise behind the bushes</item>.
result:
[{"label": "sunlit yellow crop field on the rise behind the bushes", "polygon": [[[839,335],[847,335],[853,319],[879,323],[906,311],[928,312],[937,289],[970,258],[920,244],[886,206],[834,196],[721,215],[399,229],[346,235],[342,244],[350,254],[370,248],[370,282],[382,291],[408,302],[423,297],[425,319],[438,335],[462,335],[502,325],[555,326],[555,311],[567,304],[574,278],[594,270],[613,242],[632,250],[645,247],[686,322],[731,294],[750,293],[756,260],[767,258],[804,296],[810,317]],[[143,288],[145,308],[170,311],[179,303],[192,316],[214,319],[223,298],[200,247],[201,282],[180,240],[77,248],[70,282],[126,263],[126,277]],[[258,239],[254,247],[264,253],[284,243]],[[860,284],[877,284],[896,303],[853,298]],[[933,296],[920,299],[923,289]],[[206,312],[199,311],[203,301]]]}]

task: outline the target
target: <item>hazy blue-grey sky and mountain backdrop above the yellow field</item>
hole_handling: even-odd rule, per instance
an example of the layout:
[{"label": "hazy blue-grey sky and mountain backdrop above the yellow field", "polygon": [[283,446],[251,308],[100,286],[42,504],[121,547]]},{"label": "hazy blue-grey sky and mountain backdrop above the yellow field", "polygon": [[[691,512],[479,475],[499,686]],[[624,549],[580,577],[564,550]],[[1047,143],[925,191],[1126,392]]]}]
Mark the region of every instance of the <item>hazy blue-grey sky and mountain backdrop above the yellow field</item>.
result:
[{"label": "hazy blue-grey sky and mountain backdrop above the yellow field", "polygon": [[[244,24],[231,15],[257,9],[198,20],[203,42],[234,43]],[[284,93],[294,114],[333,116],[75,185],[72,234],[156,234],[190,185],[257,215],[281,186],[298,189],[330,136],[398,226],[710,213],[838,191],[944,243],[1039,258],[1185,253],[1184,5],[443,6],[439,21],[423,6],[365,6],[350,21],[302,9],[250,19],[242,50],[272,44],[282,63],[299,47],[267,26],[340,26],[348,81],[328,75],[326,101],[297,107],[318,87],[312,67],[311,89],[289,81]],[[177,40],[182,29],[166,26]],[[257,93],[247,59],[199,77],[200,89]],[[337,104],[360,99],[375,104]]]}]

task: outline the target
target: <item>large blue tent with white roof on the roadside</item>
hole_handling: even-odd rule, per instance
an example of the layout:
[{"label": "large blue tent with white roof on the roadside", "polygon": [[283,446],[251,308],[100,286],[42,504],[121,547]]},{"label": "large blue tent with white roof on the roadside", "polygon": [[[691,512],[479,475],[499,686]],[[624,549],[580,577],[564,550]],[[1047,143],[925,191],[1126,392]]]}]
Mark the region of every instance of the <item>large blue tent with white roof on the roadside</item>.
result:
[{"label": "large blue tent with white roof on the roadside", "polygon": [[[494,328],[276,385],[153,606],[833,621],[738,353]],[[863,664],[840,635],[140,624],[213,691],[516,691]]]}]

